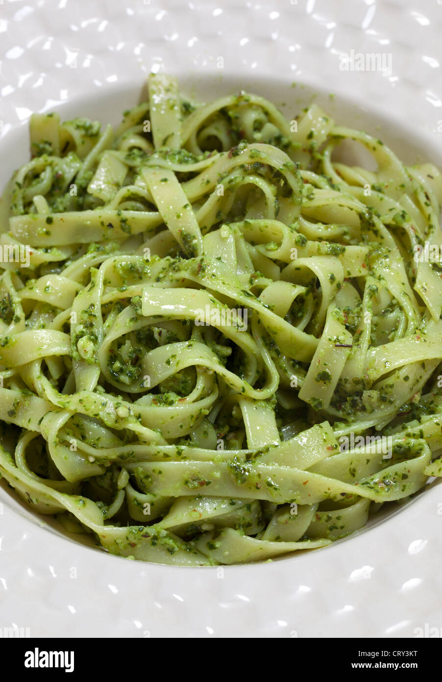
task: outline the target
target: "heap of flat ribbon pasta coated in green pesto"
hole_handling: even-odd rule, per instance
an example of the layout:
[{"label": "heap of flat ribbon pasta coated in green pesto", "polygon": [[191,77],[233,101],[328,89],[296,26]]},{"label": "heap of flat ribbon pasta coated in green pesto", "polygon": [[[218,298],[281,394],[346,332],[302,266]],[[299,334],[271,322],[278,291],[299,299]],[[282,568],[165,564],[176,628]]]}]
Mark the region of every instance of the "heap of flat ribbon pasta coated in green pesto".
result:
[{"label": "heap of flat ribbon pasta coated in green pesto", "polygon": [[326,546],[441,475],[441,174],[315,104],[148,89],[116,129],[31,118],[0,210],[1,476],[132,559]]}]

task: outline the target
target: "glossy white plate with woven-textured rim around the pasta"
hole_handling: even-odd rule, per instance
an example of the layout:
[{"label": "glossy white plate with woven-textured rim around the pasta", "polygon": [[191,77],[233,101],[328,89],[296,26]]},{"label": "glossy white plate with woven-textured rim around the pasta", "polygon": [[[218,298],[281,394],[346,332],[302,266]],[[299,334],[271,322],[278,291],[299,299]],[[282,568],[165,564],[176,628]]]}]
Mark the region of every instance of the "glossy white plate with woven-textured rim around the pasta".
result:
[{"label": "glossy white plate with woven-textured rim around the pasta", "polygon": [[[4,0],[0,186],[27,158],[19,123],[33,110],[115,122],[151,69],[176,74],[185,91],[206,100],[254,89],[285,102],[288,118],[319,93],[331,115],[382,137],[407,162],[442,165],[441,28],[437,0]],[[385,55],[391,72],[341,70],[351,50]],[[436,485],[325,550],[259,565],[164,567],[75,544],[40,527],[0,488],[0,630],[74,637],[442,632],[435,599],[441,525]]]}]

